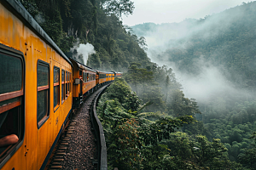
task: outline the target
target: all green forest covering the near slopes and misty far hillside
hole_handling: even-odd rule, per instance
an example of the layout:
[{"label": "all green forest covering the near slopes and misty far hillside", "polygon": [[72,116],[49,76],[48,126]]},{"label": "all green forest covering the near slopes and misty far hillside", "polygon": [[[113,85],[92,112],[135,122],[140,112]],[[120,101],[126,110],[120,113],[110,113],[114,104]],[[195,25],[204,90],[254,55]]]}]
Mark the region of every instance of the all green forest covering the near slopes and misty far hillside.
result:
[{"label": "all green forest covering the near slopes and misty far hillside", "polygon": [[[256,3],[201,20],[131,28],[120,18],[133,13],[131,0],[19,1],[68,57],[124,72],[97,108],[109,169],[256,169]],[[192,31],[185,29],[186,36],[172,37],[162,51],[151,53],[147,33],[161,26]],[[72,50],[78,44],[91,44],[95,53],[85,61]],[[189,77],[218,68],[232,86],[204,102],[189,99],[174,68],[157,65],[148,54]]]}]

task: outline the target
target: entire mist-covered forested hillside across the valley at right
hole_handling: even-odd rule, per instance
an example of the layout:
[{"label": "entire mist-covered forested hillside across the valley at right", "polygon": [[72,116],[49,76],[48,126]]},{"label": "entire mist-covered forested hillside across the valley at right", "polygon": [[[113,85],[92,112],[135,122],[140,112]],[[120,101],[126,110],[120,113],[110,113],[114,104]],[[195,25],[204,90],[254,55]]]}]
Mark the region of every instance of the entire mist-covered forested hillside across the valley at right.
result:
[{"label": "entire mist-covered forested hillside across the valley at right", "polygon": [[[254,168],[248,154],[256,130],[256,2],[201,20],[132,27],[146,38],[148,56],[171,66],[186,96],[198,101],[210,138],[221,139],[231,161]],[[189,134],[198,129],[184,127]],[[251,163],[250,166],[248,164]]]}]

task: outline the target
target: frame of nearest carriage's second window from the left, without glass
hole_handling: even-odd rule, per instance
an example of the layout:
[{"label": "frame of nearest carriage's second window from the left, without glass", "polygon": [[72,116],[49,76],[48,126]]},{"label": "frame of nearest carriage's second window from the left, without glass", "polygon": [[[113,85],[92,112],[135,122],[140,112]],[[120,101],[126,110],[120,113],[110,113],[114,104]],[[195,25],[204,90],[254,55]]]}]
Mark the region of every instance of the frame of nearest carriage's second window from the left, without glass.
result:
[{"label": "frame of nearest carriage's second window from the left, without glass", "polygon": [[[44,65],[48,67],[48,87],[47,86],[42,86],[38,87],[38,65]],[[37,124],[38,124],[38,129],[44,125],[44,122],[46,122],[49,119],[49,105],[50,105],[50,98],[49,98],[49,92],[50,92],[50,68],[49,68],[49,63],[45,62],[44,60],[38,59],[38,65],[37,65]],[[43,90],[48,89],[48,107],[45,116],[38,121],[38,92],[41,92]]]}]

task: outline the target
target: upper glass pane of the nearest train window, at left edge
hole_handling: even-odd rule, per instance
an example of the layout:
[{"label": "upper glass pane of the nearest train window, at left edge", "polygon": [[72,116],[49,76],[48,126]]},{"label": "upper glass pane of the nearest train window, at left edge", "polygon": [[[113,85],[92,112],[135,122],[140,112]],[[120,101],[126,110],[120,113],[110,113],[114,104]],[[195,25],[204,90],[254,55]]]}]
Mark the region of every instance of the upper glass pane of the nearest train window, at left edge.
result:
[{"label": "upper glass pane of the nearest train window, at left edge", "polygon": [[0,53],[0,94],[15,92],[21,89],[21,59]]}]

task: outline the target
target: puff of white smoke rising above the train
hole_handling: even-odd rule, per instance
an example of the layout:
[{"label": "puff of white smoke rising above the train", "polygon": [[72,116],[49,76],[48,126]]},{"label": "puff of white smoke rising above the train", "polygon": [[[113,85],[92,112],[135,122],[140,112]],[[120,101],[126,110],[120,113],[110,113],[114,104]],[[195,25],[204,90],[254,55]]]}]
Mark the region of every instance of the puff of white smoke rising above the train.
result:
[{"label": "puff of white smoke rising above the train", "polygon": [[78,45],[75,45],[73,48],[71,48],[71,52],[73,52],[76,49],[78,54],[73,55],[74,59],[79,60],[79,56],[82,55],[84,59],[84,65],[86,65],[88,57],[90,54],[96,54],[96,51],[94,50],[94,47],[90,43],[80,43]]}]

